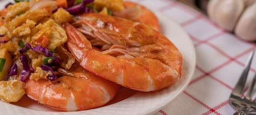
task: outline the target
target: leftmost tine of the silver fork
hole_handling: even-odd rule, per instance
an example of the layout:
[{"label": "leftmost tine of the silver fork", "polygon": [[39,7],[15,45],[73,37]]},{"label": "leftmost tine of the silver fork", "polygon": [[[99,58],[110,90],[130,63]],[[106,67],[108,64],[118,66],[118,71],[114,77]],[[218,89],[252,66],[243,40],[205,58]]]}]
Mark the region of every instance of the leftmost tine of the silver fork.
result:
[{"label": "leftmost tine of the silver fork", "polygon": [[245,81],[247,79],[247,76],[248,76],[248,72],[249,72],[249,69],[251,67],[251,63],[252,63],[252,59],[253,59],[253,55],[255,53],[255,49],[253,49],[252,53],[250,54],[246,64],[245,64],[245,68],[239,78],[239,80],[237,81],[233,91],[232,91],[232,94],[235,95],[235,96],[239,96],[239,97],[242,97],[242,94],[243,94],[243,91],[244,91],[244,86],[245,86]]}]

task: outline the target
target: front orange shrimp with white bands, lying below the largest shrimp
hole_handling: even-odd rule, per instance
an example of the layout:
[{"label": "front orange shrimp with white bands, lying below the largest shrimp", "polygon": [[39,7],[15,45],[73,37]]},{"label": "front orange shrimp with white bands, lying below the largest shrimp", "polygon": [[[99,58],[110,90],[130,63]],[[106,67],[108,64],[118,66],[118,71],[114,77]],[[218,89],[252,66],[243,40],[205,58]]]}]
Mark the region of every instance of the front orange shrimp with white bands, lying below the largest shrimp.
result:
[{"label": "front orange shrimp with white bands, lying below the largest shrimp", "polygon": [[52,82],[46,79],[26,80],[26,95],[59,111],[92,109],[113,99],[120,85],[98,78],[78,66],[68,76]]}]

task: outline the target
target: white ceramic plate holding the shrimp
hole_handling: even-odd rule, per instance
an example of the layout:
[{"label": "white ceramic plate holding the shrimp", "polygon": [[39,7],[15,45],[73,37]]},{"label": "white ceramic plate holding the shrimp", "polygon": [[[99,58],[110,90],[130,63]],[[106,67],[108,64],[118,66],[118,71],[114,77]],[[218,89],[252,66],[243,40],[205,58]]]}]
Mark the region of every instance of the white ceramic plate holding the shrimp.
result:
[{"label": "white ceramic plate holding the shrimp", "polygon": [[[7,3],[0,1],[0,8]],[[2,115],[151,115],[175,99],[184,91],[190,82],[195,66],[196,53],[194,45],[181,26],[167,18],[161,12],[152,10],[161,24],[162,34],[167,36],[182,53],[184,66],[181,80],[174,85],[156,92],[137,92],[122,88],[116,97],[103,107],[77,112],[57,112],[45,105],[37,104],[27,96],[17,103],[3,103],[0,101]]]}]

